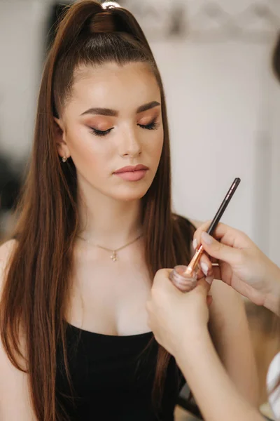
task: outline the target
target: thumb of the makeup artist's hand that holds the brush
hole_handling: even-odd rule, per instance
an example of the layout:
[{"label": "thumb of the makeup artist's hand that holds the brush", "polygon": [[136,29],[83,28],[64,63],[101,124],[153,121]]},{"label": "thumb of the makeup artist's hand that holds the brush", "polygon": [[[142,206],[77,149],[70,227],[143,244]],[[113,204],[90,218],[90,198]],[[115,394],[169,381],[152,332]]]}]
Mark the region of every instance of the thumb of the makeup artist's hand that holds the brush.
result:
[{"label": "thumb of the makeup artist's hand that holds the brush", "polygon": [[220,243],[214,237],[207,234],[207,232],[202,232],[201,236],[202,246],[204,250],[212,257],[218,260],[223,260],[223,262],[234,265],[239,257],[240,250],[237,248],[225,246],[225,244]]}]

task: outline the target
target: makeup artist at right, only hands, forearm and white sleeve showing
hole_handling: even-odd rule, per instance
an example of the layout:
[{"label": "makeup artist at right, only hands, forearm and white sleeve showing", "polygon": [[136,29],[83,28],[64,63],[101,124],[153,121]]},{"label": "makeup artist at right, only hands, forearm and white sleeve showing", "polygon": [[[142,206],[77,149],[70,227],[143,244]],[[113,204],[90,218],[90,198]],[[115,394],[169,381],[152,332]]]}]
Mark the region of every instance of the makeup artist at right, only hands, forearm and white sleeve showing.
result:
[{"label": "makeup artist at right, only hands, forearm and white sleeve showing", "polygon": [[[195,247],[202,243],[219,267],[211,267],[206,255],[201,266],[208,279],[232,286],[257,305],[264,305],[279,316],[280,269],[248,237],[220,224],[213,239],[202,225],[195,233]],[[258,411],[237,391],[228,377],[209,337],[207,293],[210,283],[200,279],[197,288],[183,294],[169,281],[170,270],[155,276],[148,302],[149,326],[155,338],[172,355],[197,400],[205,421],[262,421]],[[174,311],[176,309],[176,311]],[[186,320],[190,321],[186,323]],[[192,347],[189,343],[192,343]],[[267,392],[276,420],[280,420],[280,354],[272,361],[267,376]]]}]

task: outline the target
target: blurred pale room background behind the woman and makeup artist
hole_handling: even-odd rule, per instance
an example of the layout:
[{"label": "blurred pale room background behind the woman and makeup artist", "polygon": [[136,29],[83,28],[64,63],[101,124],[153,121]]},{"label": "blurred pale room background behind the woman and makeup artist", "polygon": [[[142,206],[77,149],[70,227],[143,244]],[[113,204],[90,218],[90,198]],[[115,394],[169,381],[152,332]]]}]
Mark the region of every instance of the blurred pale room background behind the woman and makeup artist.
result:
[{"label": "blurred pale room background behind the woman and makeup artist", "polygon": [[[31,150],[45,51],[63,4],[69,2],[0,0],[2,235],[13,225],[11,209]],[[232,180],[240,177],[223,221],[245,231],[280,265],[280,81],[272,60],[274,56],[274,67],[280,67],[280,1],[119,4],[139,20],[162,73],[174,209],[195,220],[210,219]],[[260,310],[262,322],[255,323],[255,309],[249,305],[248,314],[264,377],[274,354],[270,315]],[[269,344],[267,357],[260,349],[264,344]]]}]

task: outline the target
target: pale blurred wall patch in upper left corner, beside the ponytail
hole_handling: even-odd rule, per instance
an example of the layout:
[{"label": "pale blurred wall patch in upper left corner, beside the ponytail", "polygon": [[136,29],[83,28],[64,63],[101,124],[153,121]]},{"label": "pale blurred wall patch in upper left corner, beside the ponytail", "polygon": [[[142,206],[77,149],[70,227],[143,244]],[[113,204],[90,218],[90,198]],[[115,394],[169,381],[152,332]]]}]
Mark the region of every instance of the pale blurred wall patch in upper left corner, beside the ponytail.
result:
[{"label": "pale blurred wall patch in upper left corner, beside the ponytail", "polygon": [[0,147],[15,161],[31,147],[48,4],[0,1]]}]

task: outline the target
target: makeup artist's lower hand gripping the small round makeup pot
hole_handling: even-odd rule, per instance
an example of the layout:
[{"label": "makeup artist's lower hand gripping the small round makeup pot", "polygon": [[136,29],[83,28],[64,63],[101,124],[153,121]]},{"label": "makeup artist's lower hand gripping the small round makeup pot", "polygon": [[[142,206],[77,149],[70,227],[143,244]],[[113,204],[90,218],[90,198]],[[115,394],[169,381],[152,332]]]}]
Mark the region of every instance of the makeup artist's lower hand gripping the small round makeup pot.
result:
[{"label": "makeup artist's lower hand gripping the small round makeup pot", "polygon": [[207,297],[210,285],[204,278],[192,291],[182,293],[170,281],[170,272],[172,269],[160,269],[155,274],[147,302],[148,325],[160,345],[176,356],[183,341],[191,342],[207,330],[211,297]]}]

